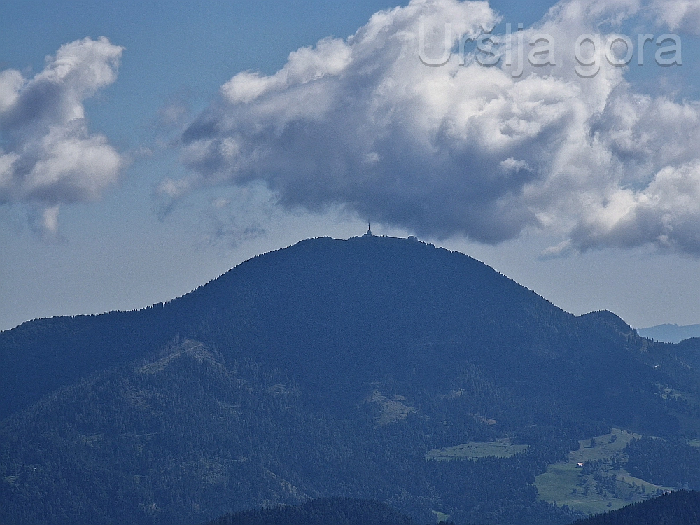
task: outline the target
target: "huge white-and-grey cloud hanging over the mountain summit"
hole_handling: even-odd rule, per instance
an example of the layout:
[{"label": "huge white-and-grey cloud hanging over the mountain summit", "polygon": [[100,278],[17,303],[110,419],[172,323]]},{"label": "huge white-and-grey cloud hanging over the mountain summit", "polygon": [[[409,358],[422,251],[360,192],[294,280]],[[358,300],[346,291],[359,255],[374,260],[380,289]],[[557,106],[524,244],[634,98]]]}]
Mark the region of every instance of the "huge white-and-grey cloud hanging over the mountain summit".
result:
[{"label": "huge white-and-grey cloud hanging over the mountain summit", "polygon": [[[376,13],[345,40],[291,53],[274,75],[225,83],[181,136],[190,174],[158,192],[176,202],[264,183],[286,209],[340,206],[424,236],[561,234],[546,257],[640,244],[700,253],[689,233],[700,216],[685,204],[696,195],[696,102],[632,92],[625,69],[600,55],[586,78],[574,54],[578,36],[602,32],[601,51],[610,27],[644,19],[654,1],[557,3],[521,31],[522,71],[517,53],[482,66],[473,45],[463,65],[456,52],[442,66],[421,61],[420,27],[423,54],[437,59],[446,22],[453,51],[461,35],[496,25],[487,3],[414,0]],[[685,24],[691,7],[666,24]],[[554,65],[527,62],[538,34],[556,44]],[[493,44],[503,50],[505,36]]]}]

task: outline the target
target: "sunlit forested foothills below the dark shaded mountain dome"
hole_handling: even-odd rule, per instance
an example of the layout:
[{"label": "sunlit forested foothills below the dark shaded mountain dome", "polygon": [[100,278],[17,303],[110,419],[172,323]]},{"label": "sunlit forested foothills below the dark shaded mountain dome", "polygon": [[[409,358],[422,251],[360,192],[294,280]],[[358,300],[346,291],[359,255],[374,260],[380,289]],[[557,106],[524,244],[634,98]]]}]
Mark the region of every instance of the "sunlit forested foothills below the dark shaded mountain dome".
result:
[{"label": "sunlit forested foothills below the dark shaded mountain dome", "polygon": [[0,426],[0,522],[196,523],[338,494],[379,498],[423,523],[435,520],[433,511],[462,522],[575,518],[538,502],[531,483],[575,438],[601,430],[542,427],[537,439],[533,430],[514,437],[532,443],[527,454],[426,461],[430,449],[503,435],[503,426],[468,414],[488,401],[505,416],[512,398],[468,371],[455,386],[472,395],[402,390],[405,406],[424,402],[404,416],[381,399],[395,398],[395,385],[375,384],[381,398],[339,416],[306,409],[280,370],[226,363],[191,340],[173,344],[57,391]]}]

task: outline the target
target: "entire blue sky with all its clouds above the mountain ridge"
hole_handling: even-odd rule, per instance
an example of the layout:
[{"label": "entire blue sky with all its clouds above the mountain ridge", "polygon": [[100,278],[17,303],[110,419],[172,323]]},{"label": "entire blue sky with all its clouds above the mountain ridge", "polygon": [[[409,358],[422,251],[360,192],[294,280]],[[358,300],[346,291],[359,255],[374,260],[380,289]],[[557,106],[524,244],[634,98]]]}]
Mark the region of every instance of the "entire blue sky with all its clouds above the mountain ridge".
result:
[{"label": "entire blue sky with all its clouds above the mountain ridge", "polygon": [[0,330],[368,221],[700,323],[699,34],[700,0],[8,3]]}]

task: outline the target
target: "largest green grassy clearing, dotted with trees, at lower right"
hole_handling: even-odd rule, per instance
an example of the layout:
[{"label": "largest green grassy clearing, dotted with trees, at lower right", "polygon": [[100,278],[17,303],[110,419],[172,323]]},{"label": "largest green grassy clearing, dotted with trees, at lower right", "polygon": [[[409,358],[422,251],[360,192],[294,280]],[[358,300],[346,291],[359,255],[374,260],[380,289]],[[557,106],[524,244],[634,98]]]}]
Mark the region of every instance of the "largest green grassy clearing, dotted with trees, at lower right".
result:
[{"label": "largest green grassy clearing, dotted with trees, at lower right", "polygon": [[[640,437],[613,429],[610,434],[595,437],[594,447],[591,447],[591,440],[580,441],[579,449],[568,454],[566,463],[547,466],[547,472],[535,479],[540,500],[595,514],[643,500],[657,491],[669,490],[631,477],[624,468],[615,468],[613,460],[621,462],[624,467],[624,447]],[[578,464],[586,461],[601,463],[595,472],[584,474],[584,468]]]}]

